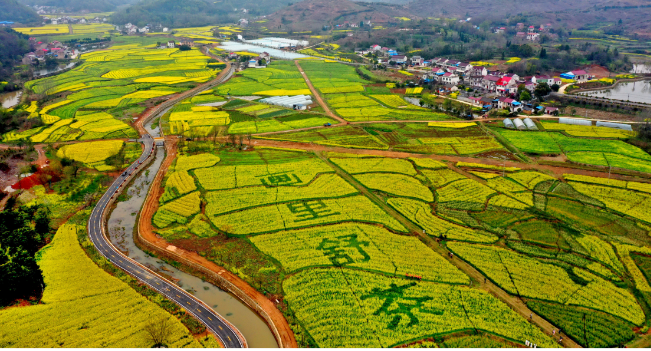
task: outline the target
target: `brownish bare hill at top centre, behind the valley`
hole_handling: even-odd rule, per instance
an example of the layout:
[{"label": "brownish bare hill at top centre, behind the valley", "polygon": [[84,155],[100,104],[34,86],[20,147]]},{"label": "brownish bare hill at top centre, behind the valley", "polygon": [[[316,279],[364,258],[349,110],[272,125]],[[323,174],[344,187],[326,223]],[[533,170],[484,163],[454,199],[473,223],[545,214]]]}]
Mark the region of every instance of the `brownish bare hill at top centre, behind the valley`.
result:
[{"label": "brownish bare hill at top centre, behind the valley", "polygon": [[402,6],[383,3],[352,2],[348,0],[305,0],[288,6],[268,17],[268,28],[291,30],[318,29],[345,21],[359,23],[370,20],[375,24],[398,22],[395,17],[408,15]]}]

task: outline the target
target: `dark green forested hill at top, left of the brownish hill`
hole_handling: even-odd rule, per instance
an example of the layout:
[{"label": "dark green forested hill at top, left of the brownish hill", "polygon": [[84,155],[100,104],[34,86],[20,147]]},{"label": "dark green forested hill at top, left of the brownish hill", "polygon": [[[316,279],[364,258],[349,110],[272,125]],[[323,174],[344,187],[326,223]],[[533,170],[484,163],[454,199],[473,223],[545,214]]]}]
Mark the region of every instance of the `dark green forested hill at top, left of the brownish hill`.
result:
[{"label": "dark green forested hill at top, left of the brownish hill", "polygon": [[141,0],[113,14],[115,24],[161,23],[170,27],[194,27],[237,21],[246,9],[250,15],[267,15],[291,0]]}]

